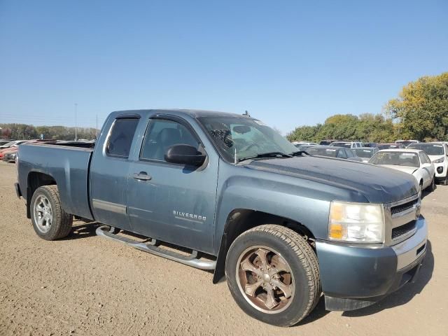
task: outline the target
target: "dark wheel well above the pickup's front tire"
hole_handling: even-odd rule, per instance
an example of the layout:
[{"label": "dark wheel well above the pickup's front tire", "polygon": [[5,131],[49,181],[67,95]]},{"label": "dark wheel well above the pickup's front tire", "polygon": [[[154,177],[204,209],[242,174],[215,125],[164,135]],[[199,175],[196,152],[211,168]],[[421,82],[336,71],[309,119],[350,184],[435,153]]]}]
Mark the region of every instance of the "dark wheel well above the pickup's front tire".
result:
[{"label": "dark wheel well above the pickup's front tire", "polygon": [[304,239],[307,239],[311,247],[314,248],[314,235],[311,230],[305,225],[302,225],[302,223],[298,223],[289,218],[267,214],[262,211],[235,209],[229,214],[227,222],[225,223],[218,259],[216,260],[216,269],[213,279],[214,283],[220,281],[225,274],[225,257],[232,242],[241,235],[241,233],[250,230],[251,228],[255,228],[255,226],[265,224],[276,224],[289,228],[304,237]]}]

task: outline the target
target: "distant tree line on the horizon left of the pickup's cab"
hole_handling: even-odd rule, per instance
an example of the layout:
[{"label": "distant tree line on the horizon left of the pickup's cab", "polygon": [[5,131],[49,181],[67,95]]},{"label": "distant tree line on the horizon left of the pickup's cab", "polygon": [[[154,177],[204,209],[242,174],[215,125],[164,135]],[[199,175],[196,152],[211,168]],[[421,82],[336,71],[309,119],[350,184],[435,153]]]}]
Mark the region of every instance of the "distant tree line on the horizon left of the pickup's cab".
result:
[{"label": "distant tree line on the horizon left of the pickup's cab", "polygon": [[[75,127],[65,126],[33,126],[27,124],[0,123],[0,138],[2,139],[43,139],[74,140]],[[78,127],[78,139],[93,140],[97,137],[97,130],[92,127]],[[98,131],[99,133],[99,131]]]}]

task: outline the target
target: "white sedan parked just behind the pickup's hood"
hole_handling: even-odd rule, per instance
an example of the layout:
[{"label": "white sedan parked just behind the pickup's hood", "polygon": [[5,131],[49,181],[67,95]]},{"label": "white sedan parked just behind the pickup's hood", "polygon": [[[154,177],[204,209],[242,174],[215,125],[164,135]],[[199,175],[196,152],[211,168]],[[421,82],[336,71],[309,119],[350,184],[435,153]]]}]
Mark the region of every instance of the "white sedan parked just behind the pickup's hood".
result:
[{"label": "white sedan parked just behind the pickup's hood", "polygon": [[435,189],[435,168],[428,155],[418,149],[384,149],[376,153],[369,163],[411,174],[420,189]]}]

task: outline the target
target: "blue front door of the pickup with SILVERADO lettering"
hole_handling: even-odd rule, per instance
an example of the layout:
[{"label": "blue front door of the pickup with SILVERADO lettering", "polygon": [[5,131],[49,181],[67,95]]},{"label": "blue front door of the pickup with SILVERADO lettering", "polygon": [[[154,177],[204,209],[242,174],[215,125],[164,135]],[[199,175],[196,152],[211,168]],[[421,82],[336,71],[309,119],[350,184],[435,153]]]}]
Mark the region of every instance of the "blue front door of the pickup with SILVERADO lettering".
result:
[{"label": "blue front door of the pickup with SILVERADO lettering", "polygon": [[132,231],[208,252],[212,248],[218,161],[207,156],[202,167],[166,162],[165,153],[175,144],[189,144],[207,154],[186,120],[160,115],[151,118],[128,176]]}]

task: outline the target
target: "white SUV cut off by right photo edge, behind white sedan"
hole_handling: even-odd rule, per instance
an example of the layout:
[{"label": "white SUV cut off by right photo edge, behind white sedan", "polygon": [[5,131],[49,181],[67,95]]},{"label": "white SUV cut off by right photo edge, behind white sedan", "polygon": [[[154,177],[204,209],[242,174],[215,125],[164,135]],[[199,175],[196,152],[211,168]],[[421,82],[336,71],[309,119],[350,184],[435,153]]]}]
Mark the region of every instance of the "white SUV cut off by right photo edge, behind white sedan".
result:
[{"label": "white SUV cut off by right photo edge, behind white sedan", "polygon": [[435,168],[435,181],[448,184],[448,146],[443,142],[410,144],[407,148],[419,149],[428,155]]}]

